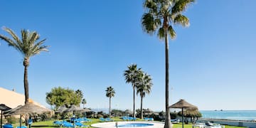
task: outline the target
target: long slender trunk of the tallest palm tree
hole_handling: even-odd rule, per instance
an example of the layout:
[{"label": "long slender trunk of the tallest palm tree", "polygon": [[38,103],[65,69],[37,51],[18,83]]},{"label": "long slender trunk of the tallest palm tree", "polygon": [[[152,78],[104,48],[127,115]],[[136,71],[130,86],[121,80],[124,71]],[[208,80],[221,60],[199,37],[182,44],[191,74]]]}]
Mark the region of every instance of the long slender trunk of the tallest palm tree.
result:
[{"label": "long slender trunk of the tallest palm tree", "polygon": [[164,128],[171,128],[171,115],[169,110],[169,43],[168,43],[167,29],[168,29],[168,24],[165,23],[164,41],[165,41],[165,54],[166,54],[166,120],[165,120]]}]

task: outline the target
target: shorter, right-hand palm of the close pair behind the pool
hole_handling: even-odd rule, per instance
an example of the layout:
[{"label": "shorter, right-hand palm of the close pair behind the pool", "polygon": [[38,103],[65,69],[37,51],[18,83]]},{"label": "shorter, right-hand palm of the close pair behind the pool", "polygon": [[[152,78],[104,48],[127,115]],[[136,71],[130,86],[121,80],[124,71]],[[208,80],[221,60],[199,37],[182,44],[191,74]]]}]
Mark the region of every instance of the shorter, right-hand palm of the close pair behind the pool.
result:
[{"label": "shorter, right-hand palm of the close pair behind the pool", "polygon": [[142,100],[146,96],[146,94],[149,94],[151,92],[151,87],[153,85],[152,79],[150,75],[147,75],[146,73],[141,73],[141,79],[139,80],[139,84],[137,85],[137,95],[139,94],[141,96],[141,118],[143,119],[143,109],[142,109]]}]

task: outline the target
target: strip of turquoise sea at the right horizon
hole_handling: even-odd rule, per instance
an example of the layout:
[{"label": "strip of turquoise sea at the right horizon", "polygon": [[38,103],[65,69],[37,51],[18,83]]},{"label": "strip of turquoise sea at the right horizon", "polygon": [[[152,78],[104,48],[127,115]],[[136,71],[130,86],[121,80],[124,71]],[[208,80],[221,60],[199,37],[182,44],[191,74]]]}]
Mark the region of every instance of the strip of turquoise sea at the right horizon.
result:
[{"label": "strip of turquoise sea at the right horizon", "polygon": [[232,119],[232,120],[256,120],[256,110],[202,110],[203,118],[207,119]]}]

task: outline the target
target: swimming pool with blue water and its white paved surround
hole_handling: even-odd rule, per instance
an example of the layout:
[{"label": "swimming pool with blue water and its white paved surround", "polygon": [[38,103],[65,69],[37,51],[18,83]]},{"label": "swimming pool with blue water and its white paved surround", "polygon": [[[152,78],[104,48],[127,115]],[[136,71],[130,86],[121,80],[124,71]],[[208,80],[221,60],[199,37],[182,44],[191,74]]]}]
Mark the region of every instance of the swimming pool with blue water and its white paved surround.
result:
[{"label": "swimming pool with blue water and its white paved surround", "polygon": [[92,124],[92,127],[97,128],[164,128],[164,122],[102,122],[97,124]]}]

